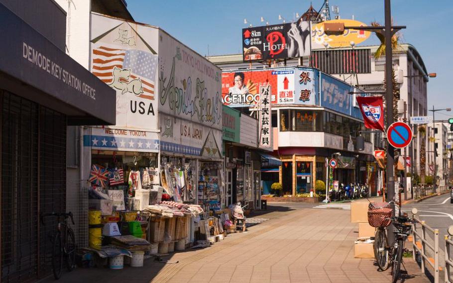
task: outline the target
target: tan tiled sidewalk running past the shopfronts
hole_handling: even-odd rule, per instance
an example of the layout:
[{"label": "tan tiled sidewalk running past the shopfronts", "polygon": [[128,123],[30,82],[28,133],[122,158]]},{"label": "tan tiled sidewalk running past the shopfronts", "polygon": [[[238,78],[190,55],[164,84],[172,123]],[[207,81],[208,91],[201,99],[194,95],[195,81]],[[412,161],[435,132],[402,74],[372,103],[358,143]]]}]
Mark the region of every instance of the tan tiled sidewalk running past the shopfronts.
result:
[{"label": "tan tiled sidewalk running past the shopfronts", "polygon": [[[78,269],[61,282],[127,283],[381,283],[389,271],[378,272],[373,260],[354,259],[357,225],[350,211],[295,209],[259,217],[270,220],[246,233],[228,235],[203,249],[176,253],[162,264],[145,261],[143,268]],[[405,282],[429,282],[411,259]],[[48,280],[48,282],[53,280]],[[47,281],[45,281],[47,282]]]}]

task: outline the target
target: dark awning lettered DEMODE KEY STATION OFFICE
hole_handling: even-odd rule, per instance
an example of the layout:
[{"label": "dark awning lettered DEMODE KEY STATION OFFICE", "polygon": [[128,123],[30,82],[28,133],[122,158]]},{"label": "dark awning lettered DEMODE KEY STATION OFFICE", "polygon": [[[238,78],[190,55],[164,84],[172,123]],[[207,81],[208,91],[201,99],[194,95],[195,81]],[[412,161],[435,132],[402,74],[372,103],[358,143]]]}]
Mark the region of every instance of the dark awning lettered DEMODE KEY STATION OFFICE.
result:
[{"label": "dark awning lettered DEMODE KEY STATION OFFICE", "polygon": [[115,124],[113,89],[3,4],[0,32],[0,88],[67,115],[69,125]]}]

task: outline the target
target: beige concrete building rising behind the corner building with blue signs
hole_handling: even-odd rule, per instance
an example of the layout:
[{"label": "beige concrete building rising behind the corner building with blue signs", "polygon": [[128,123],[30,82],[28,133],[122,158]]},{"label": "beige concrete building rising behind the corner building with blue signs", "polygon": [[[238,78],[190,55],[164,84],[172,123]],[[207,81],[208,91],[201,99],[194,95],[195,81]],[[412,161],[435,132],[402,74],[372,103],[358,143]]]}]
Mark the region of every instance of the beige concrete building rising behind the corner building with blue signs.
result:
[{"label": "beige concrete building rising behind the corner building with blue signs", "polygon": [[[259,62],[243,62],[242,54],[228,54],[219,56],[209,56],[208,59],[218,65],[222,70],[254,70],[266,69],[269,67],[280,66],[297,66],[302,62],[304,66],[313,66],[321,71],[332,74],[333,76],[353,85],[364,92],[382,92],[384,91],[384,66],[385,57],[374,58],[378,46],[356,46],[354,48],[329,48],[312,50],[312,55],[303,58],[288,59],[286,62],[275,62],[272,65],[266,65]],[[354,53],[355,52],[355,53]],[[354,55],[355,54],[355,55]],[[356,68],[350,65],[342,64],[343,60],[332,60],[337,56],[351,56],[353,61],[356,56]],[[329,60],[331,58],[331,60]],[[334,63],[333,63],[334,62]],[[400,99],[405,102],[400,104],[398,112],[399,119],[409,121],[411,116],[426,116],[427,110],[427,83],[429,81],[428,71],[426,70],[422,56],[417,49],[411,44],[400,44],[397,50],[393,51],[393,66],[395,70],[395,79],[400,89]],[[338,74],[339,70],[348,72],[347,74]],[[355,74],[357,71],[362,73]],[[413,127],[415,138],[411,145],[402,151],[402,154],[410,156],[412,166],[415,166],[416,172],[420,174],[420,147],[421,137],[417,135],[418,127]],[[425,137],[428,141],[428,135]],[[376,147],[382,146],[382,136],[374,137]],[[408,172],[412,168],[407,168]],[[428,164],[424,168],[426,174],[429,174]]]}]

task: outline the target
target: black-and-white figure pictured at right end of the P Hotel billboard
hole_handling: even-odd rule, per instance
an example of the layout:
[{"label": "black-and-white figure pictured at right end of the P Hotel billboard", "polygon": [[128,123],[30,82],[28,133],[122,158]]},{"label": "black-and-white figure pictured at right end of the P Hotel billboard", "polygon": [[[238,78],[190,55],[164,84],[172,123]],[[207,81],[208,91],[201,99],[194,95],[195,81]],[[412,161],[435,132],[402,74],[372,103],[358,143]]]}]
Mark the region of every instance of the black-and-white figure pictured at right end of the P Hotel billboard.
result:
[{"label": "black-and-white figure pictured at right end of the P Hotel billboard", "polygon": [[299,20],[291,23],[286,37],[289,38],[288,57],[310,55],[310,22]]}]

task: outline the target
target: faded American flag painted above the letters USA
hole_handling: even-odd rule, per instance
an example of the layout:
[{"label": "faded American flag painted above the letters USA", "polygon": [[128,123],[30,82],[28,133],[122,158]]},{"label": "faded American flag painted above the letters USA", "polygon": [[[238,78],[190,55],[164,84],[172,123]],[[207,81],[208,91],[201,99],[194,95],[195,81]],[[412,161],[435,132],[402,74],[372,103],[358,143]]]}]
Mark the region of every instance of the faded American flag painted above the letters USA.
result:
[{"label": "faded American flag painted above the letters USA", "polygon": [[[154,100],[154,79],[157,70],[157,55],[136,49],[119,49],[99,46],[93,49],[92,72],[103,82],[113,81],[113,68],[130,69],[130,78],[140,78],[143,93],[139,97]],[[121,78],[120,81],[128,82]]]}]

